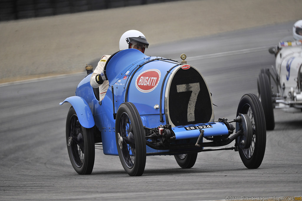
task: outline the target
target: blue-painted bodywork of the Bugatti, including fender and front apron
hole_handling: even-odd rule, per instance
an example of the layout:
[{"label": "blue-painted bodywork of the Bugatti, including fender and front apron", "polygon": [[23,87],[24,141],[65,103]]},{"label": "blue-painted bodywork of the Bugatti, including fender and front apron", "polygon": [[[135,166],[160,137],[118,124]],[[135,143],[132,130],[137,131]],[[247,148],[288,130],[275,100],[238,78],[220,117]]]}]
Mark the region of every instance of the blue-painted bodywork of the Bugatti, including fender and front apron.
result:
[{"label": "blue-painted bodywork of the Bugatti, including fender and front apron", "polygon": [[[90,85],[91,74],[88,74],[77,86],[76,96],[69,97],[64,102],[70,102],[75,108],[79,122],[83,127],[94,125],[101,131],[104,154],[118,155],[115,140],[115,114],[123,102],[132,102],[140,113],[144,126],[155,128],[166,124],[165,90],[171,73],[181,64],[165,58],[146,56],[136,49],[126,49],[116,53],[106,66],[109,87],[104,99],[99,102]],[[193,68],[193,67],[192,67]],[[144,72],[152,71],[158,77],[151,81],[140,77]],[[139,89],[138,79],[146,85],[153,86],[149,91]],[[150,83],[149,83],[150,81]],[[151,84],[152,82],[152,84]],[[63,104],[60,103],[60,104]],[[161,105],[161,108],[155,107]],[[214,117],[213,117],[214,119]],[[214,121],[214,120],[213,120]],[[196,142],[200,129],[204,129],[204,137],[227,135],[228,128],[222,122],[200,122],[201,124],[172,127],[175,140],[179,143]],[[208,126],[208,127],[207,127]],[[185,129],[187,128],[187,129]],[[201,139],[202,142],[202,139]],[[147,153],[169,152],[147,146]],[[152,155],[152,154],[149,154]]]}]

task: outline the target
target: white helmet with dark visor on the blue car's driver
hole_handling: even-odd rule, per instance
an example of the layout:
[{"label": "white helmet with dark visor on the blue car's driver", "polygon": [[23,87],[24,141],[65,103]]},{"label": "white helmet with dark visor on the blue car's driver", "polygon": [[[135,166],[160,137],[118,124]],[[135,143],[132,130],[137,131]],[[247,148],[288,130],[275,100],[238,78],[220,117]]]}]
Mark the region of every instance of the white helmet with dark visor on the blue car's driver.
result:
[{"label": "white helmet with dark visor on the blue car's driver", "polygon": [[141,52],[145,52],[149,42],[145,35],[137,30],[129,30],[120,37],[120,50],[133,48],[134,45],[140,46]]}]

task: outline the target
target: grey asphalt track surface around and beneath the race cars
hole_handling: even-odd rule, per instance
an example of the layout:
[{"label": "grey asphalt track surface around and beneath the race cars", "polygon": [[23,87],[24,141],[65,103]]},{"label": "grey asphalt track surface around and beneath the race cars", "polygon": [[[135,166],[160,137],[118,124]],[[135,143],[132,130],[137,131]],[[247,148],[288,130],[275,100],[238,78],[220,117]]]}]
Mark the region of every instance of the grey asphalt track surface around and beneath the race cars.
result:
[{"label": "grey asphalt track surface around and beneath the race cars", "polygon": [[[204,75],[215,121],[235,118],[245,93],[257,93],[261,68],[275,64],[268,47],[291,35],[291,23],[223,33],[150,47],[146,54],[178,59]],[[169,52],[169,53],[167,53]],[[99,58],[95,58],[95,63]],[[94,65],[95,66],[95,65]],[[226,196],[302,195],[302,114],[275,110],[262,165],[247,169],[233,150],[199,153],[193,168],[173,156],[148,156],[143,176],[126,174],[118,156],[96,150],[91,175],[70,164],[65,122],[85,73],[0,85],[1,200],[224,200]],[[233,145],[233,144],[230,144]]]}]

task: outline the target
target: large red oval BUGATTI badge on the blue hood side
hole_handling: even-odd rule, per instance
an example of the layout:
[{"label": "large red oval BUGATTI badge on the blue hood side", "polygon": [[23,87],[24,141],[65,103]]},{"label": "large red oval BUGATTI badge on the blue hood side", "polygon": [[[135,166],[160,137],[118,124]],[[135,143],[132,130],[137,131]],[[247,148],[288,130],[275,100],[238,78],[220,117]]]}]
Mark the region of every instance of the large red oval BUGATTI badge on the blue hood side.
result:
[{"label": "large red oval BUGATTI badge on the blue hood side", "polygon": [[153,91],[160,80],[160,71],[158,69],[149,69],[140,73],[136,80],[136,88],[143,93]]}]

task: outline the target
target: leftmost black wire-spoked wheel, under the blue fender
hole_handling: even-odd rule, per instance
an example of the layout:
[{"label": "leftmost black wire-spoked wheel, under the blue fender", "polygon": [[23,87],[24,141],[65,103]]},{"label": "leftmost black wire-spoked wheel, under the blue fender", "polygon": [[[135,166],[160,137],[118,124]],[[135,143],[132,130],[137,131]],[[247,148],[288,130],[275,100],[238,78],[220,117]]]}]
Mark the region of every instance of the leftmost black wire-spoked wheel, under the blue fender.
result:
[{"label": "leftmost black wire-spoked wheel, under the blue fender", "polygon": [[93,129],[81,126],[72,106],[66,120],[66,143],[69,159],[75,171],[78,174],[91,174],[95,161]]}]

